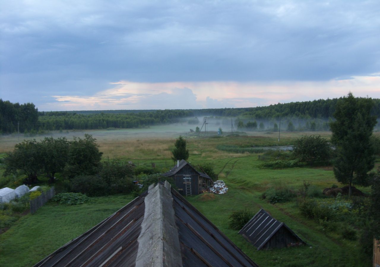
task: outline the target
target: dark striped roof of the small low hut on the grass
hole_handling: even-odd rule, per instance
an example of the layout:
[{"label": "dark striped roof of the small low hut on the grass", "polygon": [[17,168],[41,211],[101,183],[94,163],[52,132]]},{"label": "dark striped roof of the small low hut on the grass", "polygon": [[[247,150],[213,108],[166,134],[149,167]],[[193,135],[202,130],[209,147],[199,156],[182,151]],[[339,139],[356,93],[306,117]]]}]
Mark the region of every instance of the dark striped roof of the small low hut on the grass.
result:
[{"label": "dark striped roof of the small low hut on the grass", "polygon": [[288,226],[280,221],[277,221],[264,209],[260,209],[252,219],[245,224],[239,231],[246,239],[249,240],[257,250],[260,250],[266,242],[281,228],[285,227],[296,239],[304,243]]}]

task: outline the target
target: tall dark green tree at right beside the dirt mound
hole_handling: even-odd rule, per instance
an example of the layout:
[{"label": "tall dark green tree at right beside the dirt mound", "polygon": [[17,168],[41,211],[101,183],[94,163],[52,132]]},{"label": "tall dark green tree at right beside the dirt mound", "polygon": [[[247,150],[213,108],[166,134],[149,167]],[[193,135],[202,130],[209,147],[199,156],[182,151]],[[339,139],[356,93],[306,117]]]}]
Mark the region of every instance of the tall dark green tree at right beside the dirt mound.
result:
[{"label": "tall dark green tree at right beside the dirt mound", "polygon": [[368,185],[368,172],[374,167],[374,149],[370,142],[376,116],[370,111],[371,98],[355,98],[352,93],[341,98],[330,123],[331,142],[336,146],[334,174],[338,182],[349,186]]}]

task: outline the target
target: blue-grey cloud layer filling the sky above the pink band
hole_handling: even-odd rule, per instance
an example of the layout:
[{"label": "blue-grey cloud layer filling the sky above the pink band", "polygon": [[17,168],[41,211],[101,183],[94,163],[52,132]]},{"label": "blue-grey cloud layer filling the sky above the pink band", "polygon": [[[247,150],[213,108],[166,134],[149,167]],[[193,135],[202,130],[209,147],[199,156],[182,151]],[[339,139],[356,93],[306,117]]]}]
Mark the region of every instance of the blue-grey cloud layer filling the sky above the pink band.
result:
[{"label": "blue-grey cloud layer filling the sky above the pink band", "polygon": [[76,84],[95,80],[101,84],[92,90],[119,80],[324,81],[380,70],[376,0],[3,1],[0,8],[0,85],[18,93],[87,94]]}]

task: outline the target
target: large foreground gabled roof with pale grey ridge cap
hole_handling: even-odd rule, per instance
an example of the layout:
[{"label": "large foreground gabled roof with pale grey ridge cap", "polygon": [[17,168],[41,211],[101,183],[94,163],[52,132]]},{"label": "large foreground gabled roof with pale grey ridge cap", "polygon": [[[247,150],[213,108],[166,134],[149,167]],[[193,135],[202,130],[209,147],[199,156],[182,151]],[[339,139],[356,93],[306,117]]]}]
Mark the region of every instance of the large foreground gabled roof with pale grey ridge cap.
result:
[{"label": "large foreground gabled roof with pale grey ridge cap", "polygon": [[53,265],[258,266],[166,181],[35,266]]}]

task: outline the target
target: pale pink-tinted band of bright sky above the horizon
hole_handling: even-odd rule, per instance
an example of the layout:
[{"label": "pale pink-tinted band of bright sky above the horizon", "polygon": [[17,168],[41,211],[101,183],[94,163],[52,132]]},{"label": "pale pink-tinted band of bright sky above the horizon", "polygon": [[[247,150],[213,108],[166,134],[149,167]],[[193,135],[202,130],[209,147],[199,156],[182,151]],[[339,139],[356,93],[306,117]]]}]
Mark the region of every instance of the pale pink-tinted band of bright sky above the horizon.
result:
[{"label": "pale pink-tinted band of bright sky above the horizon", "polygon": [[[327,82],[131,82],[89,96],[59,96],[47,110],[195,109],[255,107],[294,101],[355,96],[380,98],[380,76],[355,76]],[[96,103],[96,104],[95,104]],[[47,104],[49,106],[49,104]],[[43,110],[40,108],[40,110]]]}]

